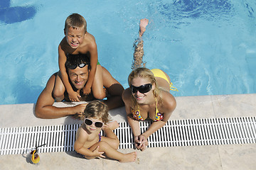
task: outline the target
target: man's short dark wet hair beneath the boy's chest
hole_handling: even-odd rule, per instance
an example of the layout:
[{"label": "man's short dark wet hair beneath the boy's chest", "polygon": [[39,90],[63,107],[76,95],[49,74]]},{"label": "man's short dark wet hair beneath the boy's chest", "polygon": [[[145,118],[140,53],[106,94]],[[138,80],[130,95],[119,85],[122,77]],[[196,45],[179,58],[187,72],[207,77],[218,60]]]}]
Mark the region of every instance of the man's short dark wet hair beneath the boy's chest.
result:
[{"label": "man's short dark wet hair beneath the boy's chest", "polygon": [[67,69],[74,69],[78,67],[79,64],[88,64],[90,69],[90,54],[78,54],[78,55],[70,55],[67,54],[67,61],[65,62],[65,68]]}]

